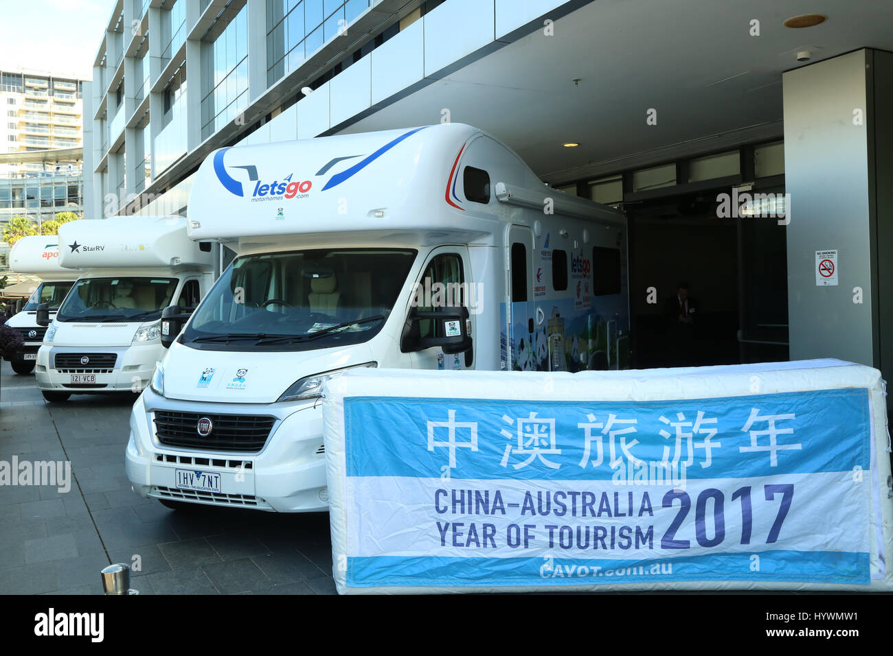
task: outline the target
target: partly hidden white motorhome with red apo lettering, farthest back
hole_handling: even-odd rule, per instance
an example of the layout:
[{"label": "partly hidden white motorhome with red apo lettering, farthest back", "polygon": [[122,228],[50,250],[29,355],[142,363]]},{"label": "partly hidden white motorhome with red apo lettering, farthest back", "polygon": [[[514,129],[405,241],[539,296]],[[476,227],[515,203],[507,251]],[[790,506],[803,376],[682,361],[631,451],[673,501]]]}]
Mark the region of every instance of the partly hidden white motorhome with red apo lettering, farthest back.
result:
[{"label": "partly hidden white motorhome with red apo lettering, farthest back", "polygon": [[28,303],[6,325],[21,333],[25,347],[21,354],[10,360],[13,371],[28,374],[38,361],[38,348],[44,339],[45,326],[38,326],[38,305],[46,303],[49,316],[54,317],[68,290],[78,278],[79,271],[65,269],[59,263],[58,237],[21,237],[9,253],[9,268],[13,273],[36,275],[34,291]]}]

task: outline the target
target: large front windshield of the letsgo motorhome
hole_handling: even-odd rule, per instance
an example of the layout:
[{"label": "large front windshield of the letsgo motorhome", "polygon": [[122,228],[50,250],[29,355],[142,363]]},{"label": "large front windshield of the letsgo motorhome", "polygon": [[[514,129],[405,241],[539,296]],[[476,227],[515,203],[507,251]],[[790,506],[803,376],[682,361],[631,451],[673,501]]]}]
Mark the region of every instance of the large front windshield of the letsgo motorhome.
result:
[{"label": "large front windshield of the letsgo motorhome", "polygon": [[183,341],[296,350],[365,342],[384,326],[415,255],[370,248],[242,256],[198,307]]}]

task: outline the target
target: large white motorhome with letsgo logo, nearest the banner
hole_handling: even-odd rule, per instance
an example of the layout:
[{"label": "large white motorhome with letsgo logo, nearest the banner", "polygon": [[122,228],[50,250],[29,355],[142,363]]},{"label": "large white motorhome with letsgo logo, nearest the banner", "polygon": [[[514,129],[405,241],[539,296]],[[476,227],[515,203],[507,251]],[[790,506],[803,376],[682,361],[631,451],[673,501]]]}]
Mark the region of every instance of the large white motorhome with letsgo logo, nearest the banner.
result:
[{"label": "large white motorhome with letsgo logo, nearest the banner", "polygon": [[171,507],[327,510],[319,400],[351,368],[626,366],[622,212],[467,125],[218,150],[188,222],[238,256],[163,318],[130,418],[129,480]]}]

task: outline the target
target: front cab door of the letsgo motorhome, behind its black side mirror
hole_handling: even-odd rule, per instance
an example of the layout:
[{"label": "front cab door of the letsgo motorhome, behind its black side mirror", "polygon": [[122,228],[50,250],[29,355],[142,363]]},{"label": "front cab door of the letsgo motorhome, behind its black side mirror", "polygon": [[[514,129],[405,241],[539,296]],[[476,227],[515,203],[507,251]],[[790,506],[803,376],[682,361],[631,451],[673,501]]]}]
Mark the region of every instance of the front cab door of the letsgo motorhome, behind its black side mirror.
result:
[{"label": "front cab door of the letsgo motorhome, behind its black side mirror", "polygon": [[[464,246],[439,246],[431,251],[428,260],[416,280],[413,303],[419,311],[433,311],[437,306],[468,305],[468,285],[471,281],[468,249]],[[413,369],[462,370],[474,369],[475,339],[474,317],[469,317],[472,348],[465,353],[444,353],[432,347],[411,353]],[[419,332],[423,337],[437,337],[441,321],[421,320]]]}]

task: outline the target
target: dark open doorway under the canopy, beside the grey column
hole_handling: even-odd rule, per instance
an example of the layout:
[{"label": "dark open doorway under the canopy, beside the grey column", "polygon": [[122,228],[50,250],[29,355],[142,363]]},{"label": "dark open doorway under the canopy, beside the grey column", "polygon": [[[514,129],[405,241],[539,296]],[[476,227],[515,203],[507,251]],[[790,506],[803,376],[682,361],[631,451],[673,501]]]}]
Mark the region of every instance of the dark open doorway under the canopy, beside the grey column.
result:
[{"label": "dark open doorway under the canopy, beside the grey column", "polygon": [[[729,191],[624,204],[633,367],[788,360],[785,228],[718,217],[716,195]],[[680,281],[696,310],[681,347],[673,332]]]}]

